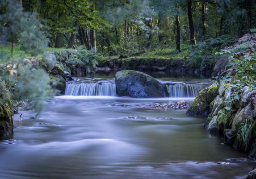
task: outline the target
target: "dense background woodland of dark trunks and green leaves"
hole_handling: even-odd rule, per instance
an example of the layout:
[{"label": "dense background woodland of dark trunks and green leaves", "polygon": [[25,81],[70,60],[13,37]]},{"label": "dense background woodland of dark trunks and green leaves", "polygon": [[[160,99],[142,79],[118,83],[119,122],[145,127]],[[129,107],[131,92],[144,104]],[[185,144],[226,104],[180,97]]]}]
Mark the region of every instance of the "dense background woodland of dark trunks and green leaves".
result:
[{"label": "dense background woodland of dark trunks and green leaves", "polygon": [[[256,25],[254,0],[17,0],[44,25],[48,46],[136,54],[216,38]],[[16,7],[16,8],[17,8]],[[4,13],[4,9],[2,12]],[[13,12],[14,13],[14,12]],[[17,12],[16,12],[17,13]],[[33,16],[32,14],[36,14]],[[6,24],[7,25],[7,24]],[[15,29],[2,43],[17,43]]]}]

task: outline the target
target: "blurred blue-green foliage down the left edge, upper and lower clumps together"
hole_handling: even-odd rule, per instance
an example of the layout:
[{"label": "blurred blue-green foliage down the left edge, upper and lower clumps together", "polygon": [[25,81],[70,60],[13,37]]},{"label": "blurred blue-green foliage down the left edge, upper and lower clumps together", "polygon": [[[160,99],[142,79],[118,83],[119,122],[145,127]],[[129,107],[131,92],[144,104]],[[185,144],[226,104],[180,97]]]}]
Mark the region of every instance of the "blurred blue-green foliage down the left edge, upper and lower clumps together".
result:
[{"label": "blurred blue-green foliage down the left edge, upper and lower clumps together", "polygon": [[42,30],[45,28],[36,13],[24,12],[16,1],[2,0],[0,10],[4,11],[0,13],[0,39],[4,39],[7,45],[11,43],[0,52],[0,61],[3,62],[0,75],[12,101],[29,100],[31,107],[39,112],[44,100],[54,93],[50,90],[46,71],[33,68],[29,59],[24,57],[44,51],[47,39]]}]

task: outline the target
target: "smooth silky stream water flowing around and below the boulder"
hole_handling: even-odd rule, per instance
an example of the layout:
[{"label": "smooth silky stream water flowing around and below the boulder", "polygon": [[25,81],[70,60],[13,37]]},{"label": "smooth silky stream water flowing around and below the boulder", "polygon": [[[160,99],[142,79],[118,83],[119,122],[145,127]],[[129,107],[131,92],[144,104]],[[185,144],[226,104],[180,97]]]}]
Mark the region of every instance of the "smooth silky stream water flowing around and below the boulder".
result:
[{"label": "smooth silky stream water flowing around and below the boulder", "polygon": [[33,111],[21,111],[13,136],[0,141],[0,179],[245,179],[256,163],[228,160],[246,155],[207,133],[205,118],[145,108],[181,99],[193,100],[58,96],[36,119]]}]

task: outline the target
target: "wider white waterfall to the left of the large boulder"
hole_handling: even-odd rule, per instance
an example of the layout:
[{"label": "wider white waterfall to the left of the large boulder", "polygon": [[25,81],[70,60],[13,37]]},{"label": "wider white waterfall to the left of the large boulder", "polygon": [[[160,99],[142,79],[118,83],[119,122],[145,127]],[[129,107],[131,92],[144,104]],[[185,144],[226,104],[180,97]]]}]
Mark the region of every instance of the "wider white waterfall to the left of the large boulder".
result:
[{"label": "wider white waterfall to the left of the large boulder", "polygon": [[101,81],[97,83],[67,83],[65,95],[117,96],[116,84],[109,81]]}]

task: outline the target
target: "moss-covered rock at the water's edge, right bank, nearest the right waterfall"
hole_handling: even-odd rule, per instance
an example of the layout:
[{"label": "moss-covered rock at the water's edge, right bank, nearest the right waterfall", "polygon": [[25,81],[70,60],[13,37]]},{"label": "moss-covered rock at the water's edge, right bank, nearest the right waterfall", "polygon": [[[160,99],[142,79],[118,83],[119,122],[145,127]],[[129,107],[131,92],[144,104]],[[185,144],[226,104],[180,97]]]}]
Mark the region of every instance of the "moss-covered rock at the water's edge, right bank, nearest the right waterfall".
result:
[{"label": "moss-covered rock at the water's edge, right bank, nearest the right waterfall", "polygon": [[210,114],[210,103],[218,95],[218,87],[207,87],[195,98],[190,108],[186,112],[189,116],[206,117]]}]

